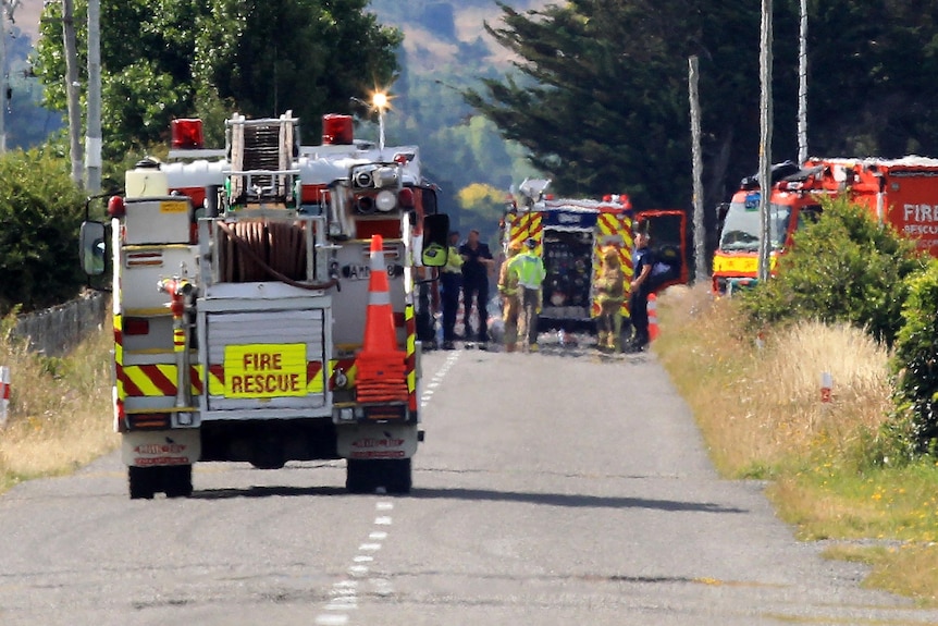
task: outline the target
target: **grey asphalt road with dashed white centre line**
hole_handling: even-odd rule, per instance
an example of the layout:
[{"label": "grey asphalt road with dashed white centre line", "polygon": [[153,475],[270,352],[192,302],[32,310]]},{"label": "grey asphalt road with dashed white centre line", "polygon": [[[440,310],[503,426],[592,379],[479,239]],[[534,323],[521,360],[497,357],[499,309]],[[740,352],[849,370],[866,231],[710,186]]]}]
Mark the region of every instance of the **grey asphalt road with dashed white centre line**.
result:
[{"label": "grey asphalt road with dashed white centre line", "polygon": [[197,466],[129,501],[116,455],[0,496],[0,624],[938,624],[863,590],[712,468],[653,355],[424,358],[409,496],[344,464]]}]

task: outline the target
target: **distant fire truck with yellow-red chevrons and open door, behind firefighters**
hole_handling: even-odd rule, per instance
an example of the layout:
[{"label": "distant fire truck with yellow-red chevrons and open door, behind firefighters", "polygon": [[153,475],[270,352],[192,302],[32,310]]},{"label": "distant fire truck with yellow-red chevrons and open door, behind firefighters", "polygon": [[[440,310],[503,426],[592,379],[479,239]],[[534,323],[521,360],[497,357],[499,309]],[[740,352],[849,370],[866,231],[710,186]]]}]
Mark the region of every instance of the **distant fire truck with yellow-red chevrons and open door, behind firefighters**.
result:
[{"label": "distant fire truck with yellow-red chevrons and open door, behind firefighters", "polygon": [[[595,332],[600,307],[593,284],[602,250],[607,246],[618,250],[628,285],[637,229],[654,234],[654,291],[688,282],[684,211],[634,211],[625,194],[602,199],[555,198],[546,193],[548,185],[547,180],[521,183],[499,224],[506,251],[513,244],[533,238],[534,254],[544,261],[540,331]],[[628,317],[628,302],[622,303],[622,315]]]}]

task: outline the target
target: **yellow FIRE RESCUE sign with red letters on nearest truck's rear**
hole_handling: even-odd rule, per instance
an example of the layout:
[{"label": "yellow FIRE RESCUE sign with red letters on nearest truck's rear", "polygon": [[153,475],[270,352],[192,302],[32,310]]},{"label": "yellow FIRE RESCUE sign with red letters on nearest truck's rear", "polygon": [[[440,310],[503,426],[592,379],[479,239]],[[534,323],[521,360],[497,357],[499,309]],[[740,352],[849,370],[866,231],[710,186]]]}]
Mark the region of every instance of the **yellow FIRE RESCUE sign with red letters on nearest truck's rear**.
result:
[{"label": "yellow FIRE RESCUE sign with red letters on nearest truck's rear", "polygon": [[226,397],[306,395],[306,344],[225,346]]}]

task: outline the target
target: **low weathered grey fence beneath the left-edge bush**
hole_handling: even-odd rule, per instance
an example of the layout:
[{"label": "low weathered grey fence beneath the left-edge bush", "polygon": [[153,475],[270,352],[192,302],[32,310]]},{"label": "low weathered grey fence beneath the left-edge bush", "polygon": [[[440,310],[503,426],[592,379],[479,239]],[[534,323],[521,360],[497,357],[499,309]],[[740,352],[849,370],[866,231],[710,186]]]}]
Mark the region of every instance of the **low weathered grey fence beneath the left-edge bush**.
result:
[{"label": "low weathered grey fence beneath the left-edge bush", "polygon": [[108,302],[109,294],[91,292],[63,305],[21,316],[11,335],[26,341],[34,352],[62,356],[101,328]]}]

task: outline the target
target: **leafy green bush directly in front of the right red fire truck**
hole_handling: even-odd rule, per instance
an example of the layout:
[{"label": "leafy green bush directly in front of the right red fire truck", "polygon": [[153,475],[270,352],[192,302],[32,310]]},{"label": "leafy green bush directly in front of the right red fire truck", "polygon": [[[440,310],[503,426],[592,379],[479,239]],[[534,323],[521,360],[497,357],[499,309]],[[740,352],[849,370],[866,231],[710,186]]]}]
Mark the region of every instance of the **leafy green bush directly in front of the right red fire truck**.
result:
[{"label": "leafy green bush directly in front of the right red fire truck", "polygon": [[756,326],[797,319],[844,321],[891,346],[902,326],[906,277],[925,259],[868,208],[841,197],[825,198],[816,223],[794,237],[778,275],[743,297]]}]

